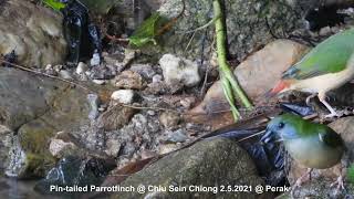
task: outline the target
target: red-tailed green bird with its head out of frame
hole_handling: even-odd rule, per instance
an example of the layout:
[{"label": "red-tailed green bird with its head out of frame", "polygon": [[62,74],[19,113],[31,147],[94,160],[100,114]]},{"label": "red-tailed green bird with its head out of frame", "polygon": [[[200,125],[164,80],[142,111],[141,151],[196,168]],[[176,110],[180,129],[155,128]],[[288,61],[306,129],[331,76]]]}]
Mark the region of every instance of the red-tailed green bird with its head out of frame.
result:
[{"label": "red-tailed green bird with its head out of frame", "polygon": [[325,95],[354,77],[353,52],[354,29],[330,36],[283,72],[279,83],[269,93],[270,96],[290,90],[317,94],[319,100],[331,112],[326,117],[339,116],[325,101]]}]

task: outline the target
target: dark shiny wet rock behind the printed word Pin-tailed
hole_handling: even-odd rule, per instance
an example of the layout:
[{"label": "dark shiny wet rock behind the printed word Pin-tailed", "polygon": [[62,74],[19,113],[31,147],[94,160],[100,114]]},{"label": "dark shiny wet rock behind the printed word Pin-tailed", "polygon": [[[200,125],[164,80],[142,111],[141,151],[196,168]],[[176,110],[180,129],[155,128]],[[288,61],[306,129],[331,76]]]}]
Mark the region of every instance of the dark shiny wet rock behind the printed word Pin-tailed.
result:
[{"label": "dark shiny wet rock behind the printed word Pin-tailed", "polygon": [[88,186],[90,189],[91,185],[98,186],[113,168],[115,168],[115,163],[110,159],[67,156],[62,158],[58,166],[48,172],[45,179],[35,185],[34,189],[46,195],[79,196],[85,191],[51,191],[50,187],[53,185],[59,187]]}]

